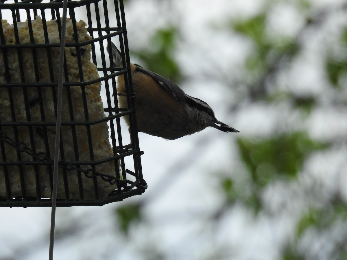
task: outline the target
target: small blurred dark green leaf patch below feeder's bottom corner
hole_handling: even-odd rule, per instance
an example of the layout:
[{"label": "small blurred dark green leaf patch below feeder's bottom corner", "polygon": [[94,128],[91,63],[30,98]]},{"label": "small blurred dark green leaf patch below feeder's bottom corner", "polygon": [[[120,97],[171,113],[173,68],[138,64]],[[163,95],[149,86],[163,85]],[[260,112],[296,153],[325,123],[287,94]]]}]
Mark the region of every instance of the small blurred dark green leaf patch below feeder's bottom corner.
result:
[{"label": "small blurred dark green leaf patch below feeder's bottom corner", "polygon": [[126,204],[116,209],[117,225],[120,230],[128,234],[131,224],[141,221],[141,208],[139,204]]}]

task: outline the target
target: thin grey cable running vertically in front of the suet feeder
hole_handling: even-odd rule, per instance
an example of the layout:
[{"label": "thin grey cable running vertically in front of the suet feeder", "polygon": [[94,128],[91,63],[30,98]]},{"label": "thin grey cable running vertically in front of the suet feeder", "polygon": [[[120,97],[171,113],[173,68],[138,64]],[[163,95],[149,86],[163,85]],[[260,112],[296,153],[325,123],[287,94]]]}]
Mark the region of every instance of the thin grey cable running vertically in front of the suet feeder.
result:
[{"label": "thin grey cable running vertically in front of the suet feeder", "polygon": [[55,144],[54,144],[54,165],[53,165],[53,187],[52,187],[51,231],[50,231],[50,241],[49,241],[49,260],[53,260],[54,229],[56,227],[57,183],[58,183],[58,166],[59,166],[59,143],[60,143],[61,102],[62,102],[64,54],[65,54],[66,16],[67,16],[67,0],[64,0],[63,1],[62,20],[61,20],[60,53],[59,53],[57,120],[56,120],[56,140],[55,140]]}]

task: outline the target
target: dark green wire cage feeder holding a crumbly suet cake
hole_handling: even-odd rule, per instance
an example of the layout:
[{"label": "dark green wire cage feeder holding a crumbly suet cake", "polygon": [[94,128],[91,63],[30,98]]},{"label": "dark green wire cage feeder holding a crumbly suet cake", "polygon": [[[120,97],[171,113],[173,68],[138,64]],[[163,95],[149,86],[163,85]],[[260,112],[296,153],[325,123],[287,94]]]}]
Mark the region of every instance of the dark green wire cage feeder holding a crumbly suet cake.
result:
[{"label": "dark green wire cage feeder holding a crumbly suet cake", "polygon": [[[56,0],[0,3],[1,207],[52,203],[61,12]],[[147,187],[133,99],[117,101],[119,75],[132,96],[124,6],[68,1],[67,14],[57,206],[102,206]],[[123,68],[106,51],[111,40]]]}]

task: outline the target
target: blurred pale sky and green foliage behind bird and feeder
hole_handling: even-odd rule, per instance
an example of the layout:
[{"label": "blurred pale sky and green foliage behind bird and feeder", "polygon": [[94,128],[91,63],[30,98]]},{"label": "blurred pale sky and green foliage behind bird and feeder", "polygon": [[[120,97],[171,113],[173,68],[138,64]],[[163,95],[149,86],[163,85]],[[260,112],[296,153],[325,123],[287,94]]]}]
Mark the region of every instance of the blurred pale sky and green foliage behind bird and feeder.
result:
[{"label": "blurred pale sky and green foliage behind bird and feeder", "polygon": [[[139,133],[148,189],[57,208],[54,259],[347,259],[347,1],[125,9],[132,61],[240,133]],[[0,221],[0,260],[48,259],[50,208]]]}]

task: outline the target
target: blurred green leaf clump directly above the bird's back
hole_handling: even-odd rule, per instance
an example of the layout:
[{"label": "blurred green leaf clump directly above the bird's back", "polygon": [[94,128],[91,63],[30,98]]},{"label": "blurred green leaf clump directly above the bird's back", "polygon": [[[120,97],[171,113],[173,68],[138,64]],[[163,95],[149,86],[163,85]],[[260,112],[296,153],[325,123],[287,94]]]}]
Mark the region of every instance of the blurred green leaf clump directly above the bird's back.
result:
[{"label": "blurred green leaf clump directly above the bird's back", "polygon": [[146,63],[140,64],[141,66],[170,79],[176,84],[182,78],[178,64],[173,58],[175,56],[177,35],[176,27],[160,29],[151,40],[151,51],[142,49],[132,52]]}]

